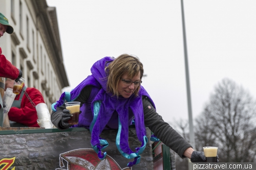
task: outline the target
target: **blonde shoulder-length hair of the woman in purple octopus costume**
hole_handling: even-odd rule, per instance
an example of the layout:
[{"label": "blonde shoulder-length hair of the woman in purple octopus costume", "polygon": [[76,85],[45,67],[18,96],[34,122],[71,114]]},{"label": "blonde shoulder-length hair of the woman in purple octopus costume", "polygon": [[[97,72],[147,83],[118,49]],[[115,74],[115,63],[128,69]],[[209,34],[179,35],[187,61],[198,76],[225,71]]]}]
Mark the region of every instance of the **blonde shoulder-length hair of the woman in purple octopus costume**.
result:
[{"label": "blonde shoulder-length hair of the woman in purple octopus costume", "polygon": [[[143,76],[143,64],[140,62],[139,58],[136,56],[131,56],[129,54],[122,54],[117,57],[112,63],[105,67],[105,71],[108,74],[108,82],[106,84],[106,89],[108,92],[112,92],[113,95],[118,97],[118,82],[121,76],[125,73],[129,77],[134,77],[140,72],[140,80]],[[135,96],[138,96],[140,86],[134,91]]]}]

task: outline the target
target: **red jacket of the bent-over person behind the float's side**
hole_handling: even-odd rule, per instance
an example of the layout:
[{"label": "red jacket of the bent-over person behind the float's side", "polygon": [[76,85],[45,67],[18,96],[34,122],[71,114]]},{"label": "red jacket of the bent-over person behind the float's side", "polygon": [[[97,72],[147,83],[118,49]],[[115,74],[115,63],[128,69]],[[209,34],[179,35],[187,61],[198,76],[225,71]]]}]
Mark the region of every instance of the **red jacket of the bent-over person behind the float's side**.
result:
[{"label": "red jacket of the bent-over person behind the float's side", "polygon": [[[39,103],[45,103],[44,98],[39,90],[36,88],[27,88],[26,92],[30,96],[31,100],[35,105]],[[12,107],[8,112],[9,119],[24,124],[28,127],[39,127],[37,124],[37,112],[32,106],[27,96],[24,94],[22,98],[22,103],[20,104],[20,109]]]}]

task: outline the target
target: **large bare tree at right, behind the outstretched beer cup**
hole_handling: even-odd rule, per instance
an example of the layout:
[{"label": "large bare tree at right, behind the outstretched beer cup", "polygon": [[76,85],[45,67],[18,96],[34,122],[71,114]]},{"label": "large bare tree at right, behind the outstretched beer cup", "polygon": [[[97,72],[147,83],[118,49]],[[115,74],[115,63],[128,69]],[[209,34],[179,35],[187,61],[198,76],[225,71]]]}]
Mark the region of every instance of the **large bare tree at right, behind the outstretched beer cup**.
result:
[{"label": "large bare tree at right, behind the outstretched beer cup", "polygon": [[223,79],[196,119],[196,148],[217,146],[221,162],[254,162],[256,105],[251,95]]}]

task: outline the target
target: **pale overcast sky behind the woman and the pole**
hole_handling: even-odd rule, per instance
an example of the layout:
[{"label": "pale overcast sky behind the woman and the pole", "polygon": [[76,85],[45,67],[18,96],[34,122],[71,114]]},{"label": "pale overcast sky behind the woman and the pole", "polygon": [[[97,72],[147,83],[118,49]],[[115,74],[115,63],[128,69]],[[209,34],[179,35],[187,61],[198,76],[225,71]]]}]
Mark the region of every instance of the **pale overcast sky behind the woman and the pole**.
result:
[{"label": "pale overcast sky behind the woman and the pole", "polygon": [[[105,56],[136,55],[142,86],[166,122],[188,119],[181,3],[47,0],[57,9],[70,90]],[[193,117],[229,78],[256,96],[256,1],[184,0]]]}]

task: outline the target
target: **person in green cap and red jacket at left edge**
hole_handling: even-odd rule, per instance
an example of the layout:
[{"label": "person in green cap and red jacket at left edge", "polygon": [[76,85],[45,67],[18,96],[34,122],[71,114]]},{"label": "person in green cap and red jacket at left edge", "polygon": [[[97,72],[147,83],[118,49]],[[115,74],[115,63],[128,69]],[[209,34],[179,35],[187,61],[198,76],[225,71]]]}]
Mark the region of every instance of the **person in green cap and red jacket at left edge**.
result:
[{"label": "person in green cap and red jacket at left edge", "polygon": [[[0,13],[0,38],[4,36],[5,33],[12,34],[13,28],[9,25],[8,19]],[[2,54],[2,48],[0,47],[0,77],[2,78],[10,78],[15,80],[16,82],[19,78],[22,77],[22,70],[16,68],[10,61],[6,59],[6,57]],[[4,83],[0,82],[0,87],[5,89]],[[0,126],[3,126],[3,101],[2,96],[0,95]]]}]

